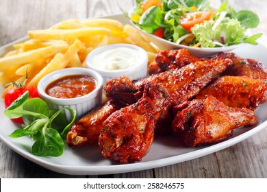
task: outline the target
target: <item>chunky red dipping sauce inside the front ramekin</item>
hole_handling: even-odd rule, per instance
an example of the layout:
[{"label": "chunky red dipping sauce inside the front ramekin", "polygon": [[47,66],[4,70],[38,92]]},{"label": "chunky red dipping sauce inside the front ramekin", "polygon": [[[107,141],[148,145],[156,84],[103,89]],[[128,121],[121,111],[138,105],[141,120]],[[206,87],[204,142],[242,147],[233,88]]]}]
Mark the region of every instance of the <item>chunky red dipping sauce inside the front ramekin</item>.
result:
[{"label": "chunky red dipping sauce inside the front ramekin", "polygon": [[71,99],[87,95],[96,86],[96,80],[90,75],[68,75],[51,82],[45,88],[45,93],[51,97]]}]

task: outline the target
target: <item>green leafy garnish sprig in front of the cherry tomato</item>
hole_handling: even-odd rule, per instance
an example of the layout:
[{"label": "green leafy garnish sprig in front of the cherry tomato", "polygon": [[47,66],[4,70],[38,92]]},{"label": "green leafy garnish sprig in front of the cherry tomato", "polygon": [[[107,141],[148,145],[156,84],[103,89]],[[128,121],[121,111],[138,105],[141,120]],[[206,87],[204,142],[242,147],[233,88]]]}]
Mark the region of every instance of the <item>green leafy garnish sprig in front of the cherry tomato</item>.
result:
[{"label": "green leafy garnish sprig in front of the cherry tomato", "polygon": [[[71,123],[66,121],[64,110],[71,112]],[[36,97],[29,99],[29,91],[18,97],[5,109],[10,119],[23,117],[23,129],[17,129],[10,137],[31,136],[34,139],[32,154],[36,156],[60,156],[64,151],[64,139],[68,128],[75,121],[76,111],[64,107],[58,111],[49,110],[45,101]]]}]

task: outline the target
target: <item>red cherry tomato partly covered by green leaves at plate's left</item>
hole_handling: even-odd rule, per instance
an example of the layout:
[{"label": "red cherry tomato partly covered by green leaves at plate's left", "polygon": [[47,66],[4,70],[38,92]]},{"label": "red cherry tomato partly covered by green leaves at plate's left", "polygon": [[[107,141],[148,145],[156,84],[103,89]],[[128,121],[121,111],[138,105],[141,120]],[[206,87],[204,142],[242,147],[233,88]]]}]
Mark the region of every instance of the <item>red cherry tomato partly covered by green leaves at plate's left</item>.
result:
[{"label": "red cherry tomato partly covered by green leaves at plate's left", "polygon": [[[13,86],[12,88],[10,88],[10,90],[7,91],[7,93],[5,93],[5,108],[8,108],[8,106],[10,106],[10,104],[12,104],[14,100],[23,95],[23,93],[25,93],[26,91],[29,91],[29,98],[40,97],[35,86],[28,84],[24,84],[22,87]],[[16,123],[23,123],[22,117],[11,120]]]}]

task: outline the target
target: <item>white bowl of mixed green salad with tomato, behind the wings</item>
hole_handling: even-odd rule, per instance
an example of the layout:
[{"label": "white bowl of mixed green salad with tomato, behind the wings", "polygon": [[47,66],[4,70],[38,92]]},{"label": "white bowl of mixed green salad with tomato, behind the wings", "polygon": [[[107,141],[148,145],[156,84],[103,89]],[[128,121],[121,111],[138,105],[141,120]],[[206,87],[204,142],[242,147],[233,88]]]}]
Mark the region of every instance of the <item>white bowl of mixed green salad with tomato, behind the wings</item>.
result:
[{"label": "white bowl of mixed green salad with tomato, behind the wings", "polygon": [[245,43],[257,45],[262,33],[251,10],[236,12],[227,1],[215,9],[210,0],[136,0],[127,16],[160,49],[188,49],[194,56],[229,52]]}]

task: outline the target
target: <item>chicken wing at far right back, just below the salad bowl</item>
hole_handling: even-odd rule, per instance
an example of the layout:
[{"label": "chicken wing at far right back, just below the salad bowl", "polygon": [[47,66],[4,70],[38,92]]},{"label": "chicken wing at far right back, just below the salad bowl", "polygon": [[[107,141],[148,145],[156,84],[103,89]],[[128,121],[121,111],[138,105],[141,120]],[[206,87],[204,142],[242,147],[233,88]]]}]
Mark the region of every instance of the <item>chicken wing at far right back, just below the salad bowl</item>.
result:
[{"label": "chicken wing at far right back, just below the salad bowl", "polygon": [[214,59],[222,60],[225,58],[231,59],[233,65],[225,70],[223,75],[246,76],[255,80],[267,81],[267,69],[261,62],[240,58],[234,53],[219,53]]}]

